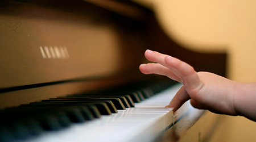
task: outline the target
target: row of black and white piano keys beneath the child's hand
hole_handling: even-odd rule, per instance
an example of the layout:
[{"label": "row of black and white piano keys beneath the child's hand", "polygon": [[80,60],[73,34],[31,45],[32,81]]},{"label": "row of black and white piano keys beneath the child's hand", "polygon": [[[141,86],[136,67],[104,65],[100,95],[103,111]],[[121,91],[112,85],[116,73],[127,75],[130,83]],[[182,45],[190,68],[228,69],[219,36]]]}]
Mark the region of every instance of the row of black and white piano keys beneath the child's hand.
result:
[{"label": "row of black and white piano keys beneath the child's hand", "polygon": [[[100,95],[90,100],[88,96],[77,94],[72,97],[69,95],[22,105],[18,111],[23,111],[25,115],[27,112],[24,109],[30,110],[32,107],[32,113],[36,114],[39,123],[44,122],[43,126],[30,116],[24,118],[23,122],[10,118],[16,120],[14,121],[16,126],[11,126],[9,129],[9,124],[7,124],[8,127],[3,127],[6,126],[4,122],[6,117],[3,115],[10,115],[9,111],[0,112],[2,115],[0,141],[152,141],[172,126],[172,108],[165,108],[165,106],[170,103],[181,86],[181,84],[172,85],[150,98],[138,95],[137,98],[140,99],[136,100],[136,96],[127,95],[127,105],[119,106],[117,106],[118,101],[122,102],[121,98],[125,97],[117,97],[115,93],[112,94],[113,104]],[[143,101],[144,98],[147,99]],[[118,101],[114,102],[115,100]],[[79,103],[75,105],[75,102]],[[117,107],[111,108],[113,105]],[[52,106],[55,107],[52,108]],[[13,109],[10,112],[19,113],[15,110],[16,108]],[[31,113],[31,110],[28,112]],[[35,110],[42,111],[47,116],[38,115],[38,112],[34,112]],[[52,117],[52,113],[57,117]],[[23,118],[23,115],[18,116]],[[31,131],[31,125],[37,127],[32,127]]]}]

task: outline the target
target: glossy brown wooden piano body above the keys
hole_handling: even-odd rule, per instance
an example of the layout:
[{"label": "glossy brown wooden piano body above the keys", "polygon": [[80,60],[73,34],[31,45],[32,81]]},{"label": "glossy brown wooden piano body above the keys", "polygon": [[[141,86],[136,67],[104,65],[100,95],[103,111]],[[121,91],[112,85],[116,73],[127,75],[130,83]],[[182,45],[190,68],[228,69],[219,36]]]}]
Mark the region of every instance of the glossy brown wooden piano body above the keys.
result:
[{"label": "glossy brown wooden piano body above the keys", "polygon": [[[165,80],[139,73],[139,64],[147,62],[146,49],[177,57],[197,71],[225,76],[225,53],[182,48],[164,34],[154,11],[131,1],[4,0],[0,7],[2,109],[135,81]],[[186,128],[200,116],[201,111]]]}]

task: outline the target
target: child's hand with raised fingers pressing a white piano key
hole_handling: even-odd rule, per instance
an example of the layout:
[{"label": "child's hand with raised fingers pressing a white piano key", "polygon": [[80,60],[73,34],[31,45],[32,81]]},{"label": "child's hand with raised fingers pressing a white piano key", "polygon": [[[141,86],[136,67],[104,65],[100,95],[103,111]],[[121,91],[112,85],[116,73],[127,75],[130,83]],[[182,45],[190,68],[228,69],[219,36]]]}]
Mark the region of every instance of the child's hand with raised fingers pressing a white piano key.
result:
[{"label": "child's hand with raised fingers pressing a white piano key", "polygon": [[147,60],[156,62],[142,64],[139,69],[144,74],[160,74],[183,83],[168,107],[176,111],[184,102],[218,114],[238,115],[234,108],[233,91],[237,83],[209,72],[195,72],[192,66],[174,57],[147,50]]}]

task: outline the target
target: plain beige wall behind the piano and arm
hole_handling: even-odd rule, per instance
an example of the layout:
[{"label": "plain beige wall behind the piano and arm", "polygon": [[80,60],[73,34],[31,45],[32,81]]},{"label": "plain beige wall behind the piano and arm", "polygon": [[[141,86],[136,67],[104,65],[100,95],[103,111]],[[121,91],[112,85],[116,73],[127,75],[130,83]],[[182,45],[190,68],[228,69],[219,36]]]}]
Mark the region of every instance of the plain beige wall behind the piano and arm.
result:
[{"label": "plain beige wall behind the piano and arm", "polygon": [[[228,78],[256,81],[256,1],[134,0],[153,9],[166,34],[196,52],[227,52]],[[223,141],[256,141],[256,123],[226,116]],[[223,133],[222,133],[223,134]]]}]

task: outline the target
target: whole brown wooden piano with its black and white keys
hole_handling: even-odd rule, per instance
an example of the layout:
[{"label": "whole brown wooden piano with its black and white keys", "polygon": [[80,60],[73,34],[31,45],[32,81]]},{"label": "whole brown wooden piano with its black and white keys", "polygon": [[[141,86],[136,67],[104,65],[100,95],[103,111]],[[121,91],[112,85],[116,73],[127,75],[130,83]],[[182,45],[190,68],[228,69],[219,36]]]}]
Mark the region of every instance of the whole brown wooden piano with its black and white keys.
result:
[{"label": "whole brown wooden piano with its black and white keys", "polygon": [[3,0],[0,46],[1,142],[177,141],[204,111],[165,108],[182,85],[140,73],[143,52],[226,71],[225,53],[181,47],[128,0]]}]

